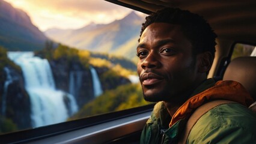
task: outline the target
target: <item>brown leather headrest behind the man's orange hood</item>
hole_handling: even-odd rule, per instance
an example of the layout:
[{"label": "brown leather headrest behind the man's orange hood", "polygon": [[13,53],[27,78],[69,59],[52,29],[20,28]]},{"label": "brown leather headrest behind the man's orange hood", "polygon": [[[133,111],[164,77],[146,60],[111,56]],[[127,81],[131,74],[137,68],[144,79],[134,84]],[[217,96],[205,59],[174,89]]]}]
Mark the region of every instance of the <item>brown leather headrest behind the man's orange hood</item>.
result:
[{"label": "brown leather headrest behind the man's orange hood", "polygon": [[233,59],[224,73],[223,80],[241,83],[256,101],[256,56]]}]

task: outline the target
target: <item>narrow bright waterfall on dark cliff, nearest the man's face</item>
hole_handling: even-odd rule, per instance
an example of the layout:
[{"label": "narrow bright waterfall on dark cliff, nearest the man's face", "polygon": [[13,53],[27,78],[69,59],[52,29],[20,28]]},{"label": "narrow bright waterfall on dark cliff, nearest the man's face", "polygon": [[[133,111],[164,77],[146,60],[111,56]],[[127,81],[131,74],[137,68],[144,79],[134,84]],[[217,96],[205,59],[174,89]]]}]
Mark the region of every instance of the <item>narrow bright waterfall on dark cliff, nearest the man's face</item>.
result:
[{"label": "narrow bright waterfall on dark cliff, nearest the man's face", "polygon": [[93,77],[93,92],[94,92],[94,97],[97,97],[103,93],[102,90],[102,85],[100,83],[99,76],[97,74],[97,71],[93,68],[90,67],[91,70],[91,76]]}]

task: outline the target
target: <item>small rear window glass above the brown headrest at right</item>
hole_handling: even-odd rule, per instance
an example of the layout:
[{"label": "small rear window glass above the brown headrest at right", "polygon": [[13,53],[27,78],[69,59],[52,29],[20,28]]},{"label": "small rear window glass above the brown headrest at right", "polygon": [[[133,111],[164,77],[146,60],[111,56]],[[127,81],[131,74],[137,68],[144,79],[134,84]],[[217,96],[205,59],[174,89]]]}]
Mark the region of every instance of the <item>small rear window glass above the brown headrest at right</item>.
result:
[{"label": "small rear window glass above the brown headrest at right", "polygon": [[240,56],[256,56],[255,46],[242,43],[235,44],[231,60]]}]

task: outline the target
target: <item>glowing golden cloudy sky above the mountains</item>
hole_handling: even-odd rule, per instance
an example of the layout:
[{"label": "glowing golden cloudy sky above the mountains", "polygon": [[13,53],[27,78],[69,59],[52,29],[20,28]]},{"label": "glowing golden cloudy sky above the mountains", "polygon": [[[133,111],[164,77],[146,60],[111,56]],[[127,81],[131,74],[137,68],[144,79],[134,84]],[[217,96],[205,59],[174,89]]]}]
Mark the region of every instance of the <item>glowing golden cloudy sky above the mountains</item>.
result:
[{"label": "glowing golden cloudy sky above the mountains", "polygon": [[130,13],[129,8],[103,0],[4,0],[25,11],[41,31],[49,28],[78,29],[109,23]]}]

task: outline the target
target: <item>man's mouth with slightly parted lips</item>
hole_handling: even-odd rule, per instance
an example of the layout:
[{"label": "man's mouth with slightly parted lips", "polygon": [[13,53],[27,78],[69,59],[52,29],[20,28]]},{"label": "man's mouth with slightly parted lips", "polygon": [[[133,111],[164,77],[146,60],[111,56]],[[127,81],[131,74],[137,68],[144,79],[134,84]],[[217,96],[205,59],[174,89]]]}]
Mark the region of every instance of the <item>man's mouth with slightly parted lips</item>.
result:
[{"label": "man's mouth with slightly parted lips", "polygon": [[162,76],[155,73],[143,73],[140,77],[142,85],[154,85],[163,80]]}]

